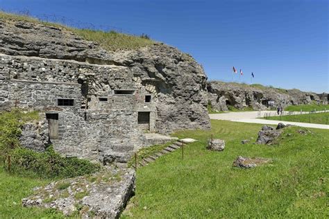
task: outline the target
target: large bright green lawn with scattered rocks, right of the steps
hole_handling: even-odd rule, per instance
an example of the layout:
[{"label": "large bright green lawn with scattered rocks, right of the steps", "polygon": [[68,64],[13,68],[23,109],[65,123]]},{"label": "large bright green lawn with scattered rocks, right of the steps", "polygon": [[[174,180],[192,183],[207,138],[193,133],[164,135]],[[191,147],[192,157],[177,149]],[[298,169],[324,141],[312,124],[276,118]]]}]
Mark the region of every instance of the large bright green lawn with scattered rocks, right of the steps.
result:
[{"label": "large bright green lawn with scattered rocks, right of the steps", "polygon": [[[211,131],[184,131],[199,139],[137,170],[133,207],[123,218],[325,218],[328,216],[328,130],[286,131],[280,146],[254,142],[262,125],[212,121]],[[223,152],[205,150],[210,135],[226,140]],[[232,168],[238,156],[270,157],[273,164]]]}]

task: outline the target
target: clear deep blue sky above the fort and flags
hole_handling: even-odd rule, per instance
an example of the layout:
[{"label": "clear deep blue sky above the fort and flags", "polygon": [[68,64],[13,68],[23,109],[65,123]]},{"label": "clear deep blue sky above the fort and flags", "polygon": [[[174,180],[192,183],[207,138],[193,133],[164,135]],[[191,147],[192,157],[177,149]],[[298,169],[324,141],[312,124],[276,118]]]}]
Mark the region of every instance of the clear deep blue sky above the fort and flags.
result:
[{"label": "clear deep blue sky above the fort and flags", "polygon": [[[329,91],[327,0],[0,0],[8,11],[146,33],[193,55],[210,80]],[[239,81],[235,74],[235,81]]]}]

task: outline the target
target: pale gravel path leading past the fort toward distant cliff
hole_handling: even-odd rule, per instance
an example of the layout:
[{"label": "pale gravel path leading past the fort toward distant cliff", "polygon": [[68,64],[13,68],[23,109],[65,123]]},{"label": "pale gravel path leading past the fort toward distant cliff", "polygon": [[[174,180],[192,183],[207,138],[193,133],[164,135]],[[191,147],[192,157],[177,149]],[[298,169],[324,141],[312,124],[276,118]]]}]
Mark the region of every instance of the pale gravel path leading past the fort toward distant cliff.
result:
[{"label": "pale gravel path leading past the fort toward distant cliff", "polygon": [[[296,112],[298,113],[298,112]],[[304,112],[307,113],[307,112]],[[275,121],[275,120],[267,120],[267,119],[258,119],[262,118],[264,114],[268,116],[275,116],[276,111],[251,111],[251,112],[228,112],[221,114],[209,114],[210,119],[219,119],[219,120],[227,120],[227,121],[235,121],[240,123],[258,123],[258,124],[269,124],[269,125],[278,125],[278,123],[283,123],[285,125],[298,125],[306,128],[321,128],[329,130],[329,125],[323,124],[314,124],[314,123],[296,123],[289,121]]]}]

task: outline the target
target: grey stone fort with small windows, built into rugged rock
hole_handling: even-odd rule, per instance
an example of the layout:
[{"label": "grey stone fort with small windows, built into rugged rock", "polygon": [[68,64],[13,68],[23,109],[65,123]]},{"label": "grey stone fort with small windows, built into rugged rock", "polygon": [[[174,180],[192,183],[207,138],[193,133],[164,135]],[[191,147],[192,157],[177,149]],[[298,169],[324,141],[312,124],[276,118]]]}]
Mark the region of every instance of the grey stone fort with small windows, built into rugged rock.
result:
[{"label": "grey stone fort with small windows, built into rugged rock", "polygon": [[65,28],[0,21],[0,110],[40,111],[28,148],[124,162],[144,132],[210,128],[206,96],[201,66],[173,47],[110,53]]}]

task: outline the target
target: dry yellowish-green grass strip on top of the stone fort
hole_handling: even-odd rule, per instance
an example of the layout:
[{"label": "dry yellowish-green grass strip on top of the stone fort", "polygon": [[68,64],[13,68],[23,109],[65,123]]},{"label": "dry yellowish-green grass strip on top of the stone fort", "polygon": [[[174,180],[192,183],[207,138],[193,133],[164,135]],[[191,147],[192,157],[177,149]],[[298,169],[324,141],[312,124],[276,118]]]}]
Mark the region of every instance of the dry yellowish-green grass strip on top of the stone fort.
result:
[{"label": "dry yellowish-green grass strip on top of the stone fort", "polygon": [[115,31],[104,32],[101,30],[87,30],[87,29],[71,28],[68,26],[64,26],[62,24],[40,21],[33,17],[1,12],[1,10],[0,10],[0,19],[7,20],[7,21],[10,21],[10,20],[28,21],[28,22],[32,22],[35,24],[44,24],[46,26],[56,26],[58,28],[65,28],[66,30],[76,33],[76,35],[82,37],[85,40],[91,40],[91,41],[99,43],[103,49],[106,49],[108,51],[138,49],[138,48],[141,48],[144,46],[150,46],[150,45],[156,43],[153,40],[149,40],[144,37],[139,37],[139,36],[135,36],[135,35],[116,33]]}]

